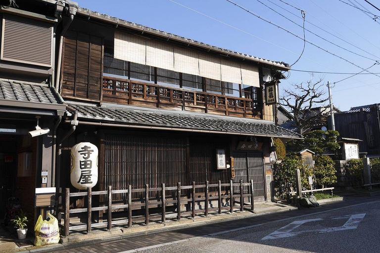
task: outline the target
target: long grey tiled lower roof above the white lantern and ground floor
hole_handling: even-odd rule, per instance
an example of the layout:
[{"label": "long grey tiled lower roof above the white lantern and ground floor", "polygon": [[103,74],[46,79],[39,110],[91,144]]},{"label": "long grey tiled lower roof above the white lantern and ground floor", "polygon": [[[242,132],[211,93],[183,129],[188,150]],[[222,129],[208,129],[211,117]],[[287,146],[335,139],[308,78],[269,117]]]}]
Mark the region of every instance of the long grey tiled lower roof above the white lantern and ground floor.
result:
[{"label": "long grey tiled lower roof above the white lantern and ground floor", "polygon": [[[67,102],[78,111],[78,120],[91,122],[113,122],[128,126],[148,126],[165,129],[201,130],[229,134],[249,134],[268,137],[300,138],[301,135],[273,122],[233,118],[227,116],[200,115],[189,112],[174,112],[160,109],[145,109],[133,106],[96,106]],[[86,119],[86,120],[84,120]]]}]

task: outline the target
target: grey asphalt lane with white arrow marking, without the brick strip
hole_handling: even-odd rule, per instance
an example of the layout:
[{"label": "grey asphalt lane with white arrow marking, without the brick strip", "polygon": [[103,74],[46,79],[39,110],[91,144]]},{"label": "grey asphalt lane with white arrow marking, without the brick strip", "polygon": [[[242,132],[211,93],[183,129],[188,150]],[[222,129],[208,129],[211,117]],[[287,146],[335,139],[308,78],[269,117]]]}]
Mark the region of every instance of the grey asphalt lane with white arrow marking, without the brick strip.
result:
[{"label": "grey asphalt lane with white arrow marking, without the brick strip", "polygon": [[[249,224],[247,224],[249,225]],[[142,253],[379,253],[380,202],[196,237]]]}]

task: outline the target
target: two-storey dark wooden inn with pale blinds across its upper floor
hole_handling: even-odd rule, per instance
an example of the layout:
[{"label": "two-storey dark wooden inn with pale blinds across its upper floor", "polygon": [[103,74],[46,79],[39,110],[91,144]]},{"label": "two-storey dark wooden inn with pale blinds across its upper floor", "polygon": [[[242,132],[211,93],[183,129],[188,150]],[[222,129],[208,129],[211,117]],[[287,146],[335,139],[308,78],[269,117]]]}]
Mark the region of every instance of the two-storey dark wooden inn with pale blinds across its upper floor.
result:
[{"label": "two-storey dark wooden inn with pale blinds across its upper floor", "polygon": [[287,64],[88,9],[76,13],[62,52],[58,89],[75,110],[64,122],[78,123],[64,146],[98,146],[99,190],[253,179],[257,200],[268,199],[270,138],[299,138],[275,126],[263,102],[264,80],[278,83]]}]

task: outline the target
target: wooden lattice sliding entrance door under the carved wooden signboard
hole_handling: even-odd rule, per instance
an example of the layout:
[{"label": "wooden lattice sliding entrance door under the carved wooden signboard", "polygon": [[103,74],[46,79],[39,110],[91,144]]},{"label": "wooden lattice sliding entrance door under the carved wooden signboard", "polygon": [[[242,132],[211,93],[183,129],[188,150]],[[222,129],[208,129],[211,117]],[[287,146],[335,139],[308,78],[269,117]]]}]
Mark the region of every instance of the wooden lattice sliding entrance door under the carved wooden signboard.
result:
[{"label": "wooden lattice sliding entrance door under the carved wooden signboard", "polygon": [[[249,183],[253,180],[253,193],[255,201],[265,200],[265,174],[262,153],[253,152],[235,152],[233,153],[234,166],[235,166],[235,178],[234,183],[239,183],[243,180],[243,183]],[[248,194],[247,188],[245,188]],[[235,189],[238,191],[238,189]]]}]

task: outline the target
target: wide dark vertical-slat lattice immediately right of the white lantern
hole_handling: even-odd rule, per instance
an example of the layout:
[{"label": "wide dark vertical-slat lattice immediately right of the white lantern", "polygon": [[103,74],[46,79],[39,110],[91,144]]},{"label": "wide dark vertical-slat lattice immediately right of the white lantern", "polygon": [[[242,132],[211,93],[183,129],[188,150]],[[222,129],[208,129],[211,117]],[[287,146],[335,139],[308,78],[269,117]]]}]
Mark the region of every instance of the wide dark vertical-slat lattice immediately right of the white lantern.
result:
[{"label": "wide dark vertical-slat lattice immediately right of the white lantern", "polygon": [[[176,186],[186,182],[186,139],[139,135],[105,136],[105,189]],[[125,196],[118,196],[122,200]],[[138,196],[134,196],[138,197]],[[115,200],[117,200],[115,199]]]}]

